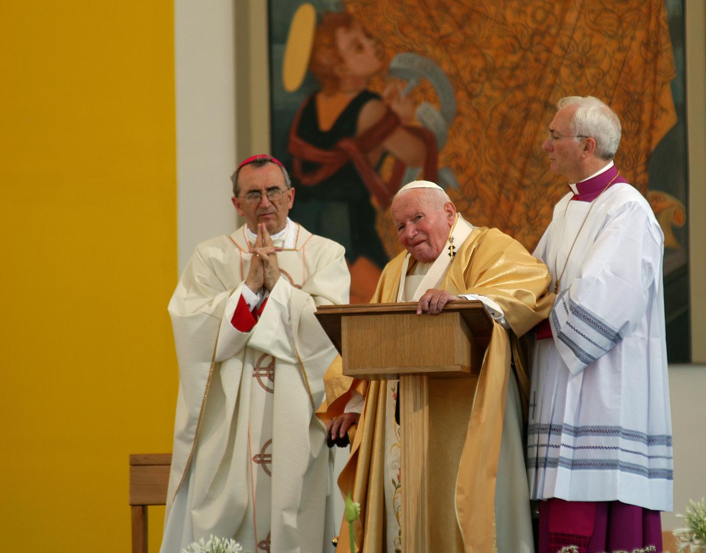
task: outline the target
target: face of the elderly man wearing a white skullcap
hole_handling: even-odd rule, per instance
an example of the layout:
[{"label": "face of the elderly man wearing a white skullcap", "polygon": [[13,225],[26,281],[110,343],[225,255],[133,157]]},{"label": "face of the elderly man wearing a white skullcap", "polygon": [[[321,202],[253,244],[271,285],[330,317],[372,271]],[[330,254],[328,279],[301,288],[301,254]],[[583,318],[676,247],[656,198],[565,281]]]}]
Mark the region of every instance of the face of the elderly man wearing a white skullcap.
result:
[{"label": "face of the elderly man wearing a white skullcap", "polygon": [[421,263],[431,263],[443,249],[456,216],[456,208],[447,202],[431,208],[425,189],[412,189],[395,198],[392,206],[397,237],[407,251]]}]

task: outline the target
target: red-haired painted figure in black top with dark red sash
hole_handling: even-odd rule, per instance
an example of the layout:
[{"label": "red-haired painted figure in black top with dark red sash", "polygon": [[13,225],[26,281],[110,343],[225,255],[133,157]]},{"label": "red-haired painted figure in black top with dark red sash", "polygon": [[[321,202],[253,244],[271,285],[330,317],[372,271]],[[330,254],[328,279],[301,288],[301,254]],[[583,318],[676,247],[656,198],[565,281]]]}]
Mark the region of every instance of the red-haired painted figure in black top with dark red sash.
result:
[{"label": "red-haired painted figure in black top with dark red sash", "polygon": [[[351,302],[368,302],[388,254],[376,230],[377,208],[387,208],[405,167],[436,179],[436,139],[411,126],[414,102],[393,83],[369,90],[385,69],[378,41],[351,14],[325,13],[316,27],[309,69],[321,86],[299,107],[289,133],[297,206],[292,218],[346,249]],[[395,164],[388,182],[379,167]]]}]

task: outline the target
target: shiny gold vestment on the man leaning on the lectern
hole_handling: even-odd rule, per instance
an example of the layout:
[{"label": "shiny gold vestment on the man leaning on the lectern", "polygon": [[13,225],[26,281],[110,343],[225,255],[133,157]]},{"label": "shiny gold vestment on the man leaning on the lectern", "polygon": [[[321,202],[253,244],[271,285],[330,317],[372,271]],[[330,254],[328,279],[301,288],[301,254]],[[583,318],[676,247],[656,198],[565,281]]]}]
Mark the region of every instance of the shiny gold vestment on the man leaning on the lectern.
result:
[{"label": "shiny gold vestment on the man leaning on the lectern", "polygon": [[[403,251],[385,266],[372,303],[397,302],[402,267],[408,255]],[[441,255],[448,255],[447,251],[443,249]],[[409,261],[408,272],[414,266],[413,260]],[[473,228],[457,250],[441,283],[436,286],[453,295],[477,294],[493,299],[503,309],[511,331],[505,331],[498,323],[494,324],[475,392],[472,379],[461,379],[467,380],[467,385],[460,381],[445,381],[448,386],[453,386],[454,393],[441,394],[444,403],[448,404],[441,405],[441,411],[450,414],[449,422],[444,423],[448,424],[448,432],[444,432],[441,439],[454,441],[451,436],[455,435],[458,436],[455,441],[463,443],[432,447],[430,442],[430,466],[433,463],[433,472],[436,473],[434,477],[430,475],[430,487],[449,487],[448,497],[455,497],[454,506],[430,505],[433,525],[441,526],[441,530],[436,529],[432,534],[431,545],[435,551],[488,553],[495,549],[496,475],[511,374],[511,351],[513,348],[516,350],[514,376],[526,410],[529,378],[522,366],[523,356],[519,355],[515,337],[525,334],[549,315],[554,304],[554,295],[547,293],[550,280],[544,263],[532,257],[519,242],[499,230],[484,227]],[[420,336],[419,339],[424,340],[424,337]],[[394,340],[393,335],[390,335],[390,340]],[[444,345],[429,344],[429,347]],[[388,382],[368,382],[343,376],[340,362],[328,369],[324,380],[326,403],[318,414],[325,422],[342,415],[353,391],[365,396],[358,428],[352,439],[351,456],[338,484],[344,496],[352,494],[353,500],[361,505],[360,521],[355,527],[355,550],[359,551],[362,547],[365,553],[382,553],[386,547],[383,492],[385,417],[394,416],[394,413],[386,412]],[[463,391],[459,393],[459,390]],[[460,416],[464,411],[468,413],[467,418]],[[454,429],[455,420],[465,427]],[[438,452],[445,448],[457,448],[461,452],[459,465]],[[402,470],[405,468],[402,467]],[[404,533],[405,528],[401,531]],[[343,523],[337,552],[351,551],[348,534],[347,523]]]}]

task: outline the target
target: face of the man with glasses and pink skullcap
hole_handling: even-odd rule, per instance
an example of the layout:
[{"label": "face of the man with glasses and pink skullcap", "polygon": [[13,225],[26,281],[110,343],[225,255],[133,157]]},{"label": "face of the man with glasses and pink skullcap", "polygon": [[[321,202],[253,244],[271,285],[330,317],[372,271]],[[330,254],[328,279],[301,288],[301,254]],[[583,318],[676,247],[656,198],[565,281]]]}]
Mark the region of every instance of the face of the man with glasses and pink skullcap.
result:
[{"label": "face of the man with glasses and pink skullcap", "polygon": [[[273,189],[283,191],[280,199],[272,201],[268,198],[268,191]],[[246,202],[245,196],[251,192],[260,192],[259,202]],[[257,232],[260,222],[265,223],[270,234],[285,228],[287,215],[294,205],[294,189],[287,189],[280,167],[274,163],[265,163],[261,167],[246,165],[238,173],[238,194],[232,198],[233,205],[252,232]]]}]

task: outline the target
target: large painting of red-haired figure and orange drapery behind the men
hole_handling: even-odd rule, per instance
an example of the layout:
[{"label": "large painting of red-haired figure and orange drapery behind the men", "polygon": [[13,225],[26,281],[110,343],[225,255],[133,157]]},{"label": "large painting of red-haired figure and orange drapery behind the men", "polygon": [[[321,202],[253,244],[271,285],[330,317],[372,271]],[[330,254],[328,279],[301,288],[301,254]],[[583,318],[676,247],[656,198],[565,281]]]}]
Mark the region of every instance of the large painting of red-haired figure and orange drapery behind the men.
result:
[{"label": "large painting of red-haired figure and orange drapery behind the men", "polygon": [[369,299],[400,250],[388,206],[413,179],[531,251],[567,191],[541,148],[556,101],[595,95],[621,117],[616,165],[664,230],[667,317],[681,325],[683,49],[669,32],[681,1],[668,23],[662,0],[270,0],[273,155],[297,186],[292,217],[346,247],[351,302]]}]

